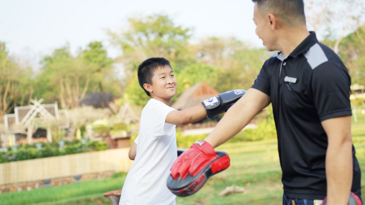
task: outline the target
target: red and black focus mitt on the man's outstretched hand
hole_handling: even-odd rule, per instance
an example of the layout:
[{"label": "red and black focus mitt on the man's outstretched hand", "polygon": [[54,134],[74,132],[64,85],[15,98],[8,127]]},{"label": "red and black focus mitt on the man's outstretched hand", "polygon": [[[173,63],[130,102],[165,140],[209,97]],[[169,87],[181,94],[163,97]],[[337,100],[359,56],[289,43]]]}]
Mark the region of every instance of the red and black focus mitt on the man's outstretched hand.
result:
[{"label": "red and black focus mitt on the man's outstretched hand", "polygon": [[230,157],[204,140],[196,141],[173,163],[167,187],[177,196],[190,196],[197,192],[212,175],[227,169]]}]

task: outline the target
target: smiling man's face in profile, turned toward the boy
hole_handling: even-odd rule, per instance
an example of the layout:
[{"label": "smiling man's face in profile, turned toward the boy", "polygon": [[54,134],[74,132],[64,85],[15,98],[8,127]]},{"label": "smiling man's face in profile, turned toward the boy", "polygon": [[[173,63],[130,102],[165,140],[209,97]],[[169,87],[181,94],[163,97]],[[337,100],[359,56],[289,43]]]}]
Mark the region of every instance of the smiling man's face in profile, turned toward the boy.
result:
[{"label": "smiling man's face in profile, turned toward the boy", "polygon": [[262,40],[262,44],[266,46],[269,51],[275,50],[273,44],[275,42],[275,35],[271,29],[270,19],[267,16],[262,16],[255,3],[253,11],[253,21],[256,24],[256,34]]}]

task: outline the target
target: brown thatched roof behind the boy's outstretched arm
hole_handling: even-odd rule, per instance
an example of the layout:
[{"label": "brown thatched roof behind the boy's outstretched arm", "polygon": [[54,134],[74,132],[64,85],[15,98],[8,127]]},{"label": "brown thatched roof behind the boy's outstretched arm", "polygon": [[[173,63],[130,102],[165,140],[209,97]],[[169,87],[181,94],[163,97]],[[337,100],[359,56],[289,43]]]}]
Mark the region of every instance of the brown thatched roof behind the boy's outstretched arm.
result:
[{"label": "brown thatched roof behind the boy's outstretched arm", "polygon": [[219,92],[205,82],[197,83],[186,89],[171,105],[176,110],[184,110],[193,106],[202,105],[202,101],[217,96]]}]

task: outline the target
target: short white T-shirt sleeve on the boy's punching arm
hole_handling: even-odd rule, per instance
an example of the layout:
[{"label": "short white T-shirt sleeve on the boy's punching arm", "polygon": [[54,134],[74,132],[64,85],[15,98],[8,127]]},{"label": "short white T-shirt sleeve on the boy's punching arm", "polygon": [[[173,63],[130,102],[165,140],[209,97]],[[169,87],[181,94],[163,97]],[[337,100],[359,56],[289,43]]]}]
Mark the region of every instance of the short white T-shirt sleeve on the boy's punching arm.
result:
[{"label": "short white T-shirt sleeve on the boy's punching arm", "polygon": [[176,125],[166,123],[166,116],[169,112],[175,111],[175,109],[166,106],[161,101],[156,100],[153,106],[150,108],[151,116],[151,133],[154,137],[161,135],[171,135]]}]

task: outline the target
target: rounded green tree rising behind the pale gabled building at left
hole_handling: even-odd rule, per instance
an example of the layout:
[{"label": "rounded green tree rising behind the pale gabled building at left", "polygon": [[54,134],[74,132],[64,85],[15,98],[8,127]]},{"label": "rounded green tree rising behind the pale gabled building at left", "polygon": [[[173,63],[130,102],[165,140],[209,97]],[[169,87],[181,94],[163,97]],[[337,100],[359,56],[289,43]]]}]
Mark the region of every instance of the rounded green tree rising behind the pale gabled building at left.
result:
[{"label": "rounded green tree rising behind the pale gabled building at left", "polygon": [[59,99],[62,108],[78,107],[97,67],[81,57],[73,57],[67,46],[44,57],[41,64],[41,72],[36,77],[37,96],[47,101]]}]

